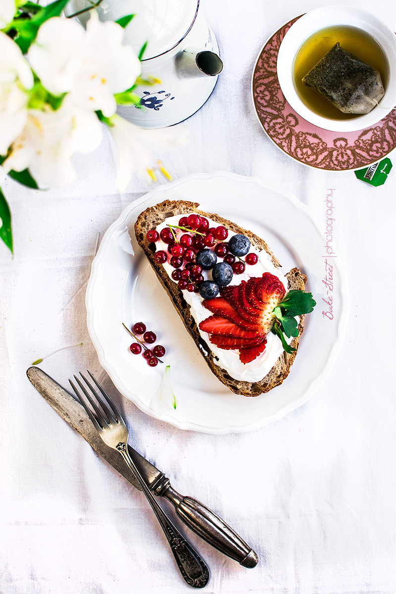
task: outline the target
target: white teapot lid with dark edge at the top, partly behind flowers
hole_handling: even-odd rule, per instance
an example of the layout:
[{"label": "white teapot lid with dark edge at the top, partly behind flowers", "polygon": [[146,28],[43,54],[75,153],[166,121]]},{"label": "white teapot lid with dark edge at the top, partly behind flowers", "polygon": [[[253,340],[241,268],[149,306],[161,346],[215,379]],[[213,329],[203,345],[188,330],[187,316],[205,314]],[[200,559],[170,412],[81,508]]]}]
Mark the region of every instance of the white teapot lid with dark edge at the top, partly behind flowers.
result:
[{"label": "white teapot lid with dark edge at the top, partly behind flowers", "polygon": [[142,60],[174,48],[186,36],[197,15],[199,0],[104,0],[100,20],[117,20],[135,14],[125,29],[125,43],[137,53],[147,42]]}]

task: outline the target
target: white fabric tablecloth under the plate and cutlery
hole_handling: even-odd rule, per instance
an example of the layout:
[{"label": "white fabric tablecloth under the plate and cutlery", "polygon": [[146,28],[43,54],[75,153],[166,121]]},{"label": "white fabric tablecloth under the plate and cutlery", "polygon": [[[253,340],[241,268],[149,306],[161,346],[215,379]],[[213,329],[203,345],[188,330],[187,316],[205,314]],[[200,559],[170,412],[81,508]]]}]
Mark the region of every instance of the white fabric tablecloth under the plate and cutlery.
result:
[{"label": "white fabric tablecloth under the plate and cutlery", "polygon": [[[396,592],[396,403],[394,387],[395,176],[379,188],[352,172],[327,173],[281,153],[260,128],[251,73],[282,24],[325,4],[202,0],[224,71],[207,104],[186,121],[189,143],[166,156],[175,178],[227,170],[293,192],[323,223],[334,188],[335,239],[351,307],[337,362],[306,405],[246,434],[183,432],[111,390],[85,323],[85,287],[96,233],[147,191],[115,191],[109,139],[78,155],[78,180],[62,191],[7,181],[15,257],[1,262],[0,592],[129,594],[188,592],[148,504],[56,415],[26,378],[41,365],[66,386],[90,368],[131,428],[131,444],[198,498],[258,552],[240,567],[188,532],[211,570],[207,594]],[[374,5],[396,30],[391,0]],[[394,157],[394,166],[396,166]],[[297,364],[297,363],[296,363]]]}]

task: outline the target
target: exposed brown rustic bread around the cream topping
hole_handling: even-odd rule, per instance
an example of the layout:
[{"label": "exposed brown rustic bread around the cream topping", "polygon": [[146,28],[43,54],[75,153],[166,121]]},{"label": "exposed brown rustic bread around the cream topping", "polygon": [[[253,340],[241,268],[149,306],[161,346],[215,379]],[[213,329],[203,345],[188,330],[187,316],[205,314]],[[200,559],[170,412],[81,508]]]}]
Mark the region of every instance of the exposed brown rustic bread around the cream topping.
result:
[{"label": "exposed brown rustic bread around the cream topping", "polygon": [[[223,384],[225,384],[236,394],[243,394],[243,396],[258,396],[259,394],[268,392],[268,390],[271,390],[275,386],[279,386],[283,382],[283,380],[289,374],[290,367],[293,364],[297,351],[294,351],[290,355],[283,351],[271,371],[261,381],[250,383],[248,381],[235,380],[234,378],[230,377],[225,369],[222,369],[217,365],[217,358],[211,351],[210,345],[208,345],[207,342],[202,339],[201,334],[199,334],[197,324],[190,314],[190,307],[183,298],[183,292],[179,289],[178,285],[169,278],[162,264],[157,264],[154,260],[153,244],[150,244],[146,238],[146,233],[150,229],[155,229],[168,217],[175,216],[176,214],[182,215],[186,213],[198,213],[201,216],[208,217],[216,221],[219,225],[224,225],[227,229],[230,229],[235,233],[242,233],[243,235],[246,235],[250,239],[252,245],[254,245],[257,249],[265,249],[265,251],[270,255],[275,266],[280,267],[280,263],[278,262],[277,258],[275,258],[273,252],[271,252],[270,248],[268,248],[268,245],[263,239],[259,238],[251,231],[242,229],[238,225],[235,225],[235,223],[223,219],[223,217],[218,216],[218,214],[205,213],[204,211],[198,210],[198,206],[198,203],[187,202],[184,200],[165,200],[160,204],[156,204],[156,206],[147,208],[138,216],[137,222],[135,223],[135,235],[138,244],[144,251],[145,255],[147,255],[147,258],[156,272],[157,277],[168,293],[170,299],[172,299],[173,305],[175,305],[180,318],[182,318],[185,327],[195,340],[199,351],[209,365],[211,371],[213,371],[216,377],[221,382],[223,382]],[[288,280],[289,289],[304,289],[306,276],[305,274],[302,274],[298,268],[293,268],[293,270],[290,270],[290,272],[285,276]],[[299,335],[293,338],[292,342],[290,343],[295,349],[297,349],[299,346],[299,339],[303,331],[303,318],[303,315],[300,316],[298,327]]]}]

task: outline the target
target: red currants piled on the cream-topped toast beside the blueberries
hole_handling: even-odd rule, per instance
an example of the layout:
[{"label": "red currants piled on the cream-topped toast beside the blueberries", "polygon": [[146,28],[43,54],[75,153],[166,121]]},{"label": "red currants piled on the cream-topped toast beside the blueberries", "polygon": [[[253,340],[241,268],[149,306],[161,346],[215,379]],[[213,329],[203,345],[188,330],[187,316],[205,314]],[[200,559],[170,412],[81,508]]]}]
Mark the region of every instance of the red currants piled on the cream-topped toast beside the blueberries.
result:
[{"label": "red currants piled on the cream-topped toast beside the blueberries", "polygon": [[[178,236],[180,232],[183,233]],[[204,281],[202,267],[195,261],[201,249],[213,249],[217,257],[230,264],[234,274],[243,274],[246,264],[254,265],[258,261],[255,252],[246,254],[245,261],[232,254],[228,243],[224,241],[228,237],[226,227],[210,227],[208,219],[194,213],[188,217],[181,217],[179,225],[164,227],[160,233],[156,229],[151,229],[146,236],[150,242],[155,243],[161,239],[168,245],[167,252],[163,249],[156,251],[154,260],[159,264],[165,264],[170,258],[170,266],[175,268],[172,271],[172,279],[178,282],[179,289],[189,292],[197,293],[199,285]]]}]

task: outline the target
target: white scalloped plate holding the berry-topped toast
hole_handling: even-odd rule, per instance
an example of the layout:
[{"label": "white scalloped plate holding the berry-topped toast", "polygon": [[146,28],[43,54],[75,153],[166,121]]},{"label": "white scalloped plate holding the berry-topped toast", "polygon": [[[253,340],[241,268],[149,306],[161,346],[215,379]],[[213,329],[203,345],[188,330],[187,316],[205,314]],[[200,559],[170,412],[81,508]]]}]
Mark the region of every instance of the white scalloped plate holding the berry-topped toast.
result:
[{"label": "white scalloped plate holding the berry-topped toast", "polygon": [[[289,377],[257,397],[237,396],[212,374],[186,332],[170,299],[138,247],[134,224],[142,210],[163,200],[191,200],[265,239],[283,270],[297,266],[317,303],[305,318],[305,331]],[[213,434],[250,431],[302,405],[330,371],[343,337],[346,293],[337,258],[332,290],[324,284],[325,239],[308,208],[289,192],[258,178],[233,173],[201,173],[154,188],[125,208],[105,233],[87,287],[87,323],[100,363],[118,390],[142,411],[180,429]],[[322,311],[332,297],[332,320]],[[142,321],[166,347],[164,364],[150,368],[132,355],[133,339],[122,327]],[[176,409],[156,393],[170,365]]]}]

